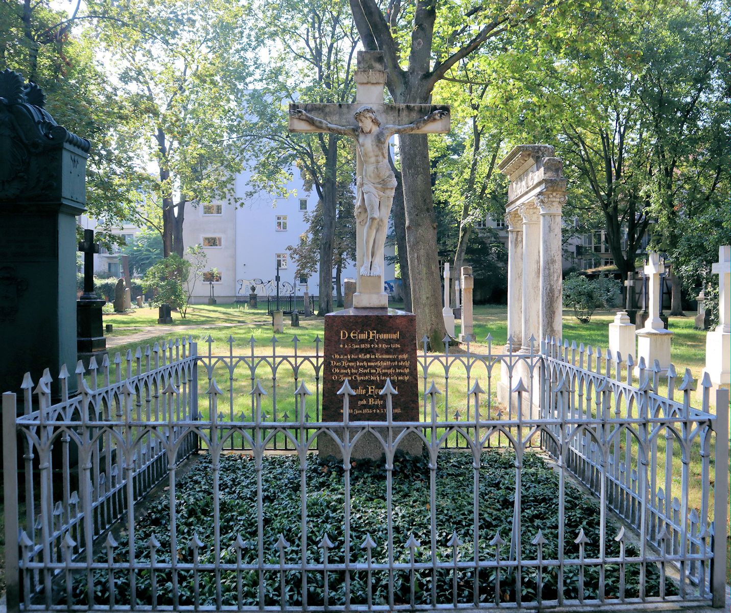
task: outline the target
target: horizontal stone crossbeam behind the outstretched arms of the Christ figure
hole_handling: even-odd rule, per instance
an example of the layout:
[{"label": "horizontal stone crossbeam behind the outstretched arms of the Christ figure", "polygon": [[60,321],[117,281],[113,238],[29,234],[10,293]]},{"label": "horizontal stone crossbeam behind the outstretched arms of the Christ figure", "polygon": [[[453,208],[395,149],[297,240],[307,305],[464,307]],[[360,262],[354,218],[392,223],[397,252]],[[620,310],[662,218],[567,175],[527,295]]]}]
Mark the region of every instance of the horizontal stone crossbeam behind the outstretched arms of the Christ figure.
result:
[{"label": "horizontal stone crossbeam behind the outstretched arms of the Christ figure", "polygon": [[[324,119],[328,123],[336,126],[352,126],[357,128],[357,122],[353,117],[355,111],[363,106],[363,103],[345,104],[289,104],[289,111],[302,109],[310,115]],[[373,107],[379,121],[383,125],[406,126],[409,123],[426,117],[435,110],[444,110],[450,112],[447,104],[374,104],[368,103],[369,107]],[[450,115],[431,121],[422,128],[415,130],[412,134],[447,134],[450,131]],[[313,126],[308,121],[292,117],[289,115],[289,132],[327,132]]]}]

